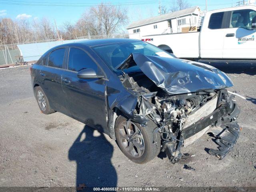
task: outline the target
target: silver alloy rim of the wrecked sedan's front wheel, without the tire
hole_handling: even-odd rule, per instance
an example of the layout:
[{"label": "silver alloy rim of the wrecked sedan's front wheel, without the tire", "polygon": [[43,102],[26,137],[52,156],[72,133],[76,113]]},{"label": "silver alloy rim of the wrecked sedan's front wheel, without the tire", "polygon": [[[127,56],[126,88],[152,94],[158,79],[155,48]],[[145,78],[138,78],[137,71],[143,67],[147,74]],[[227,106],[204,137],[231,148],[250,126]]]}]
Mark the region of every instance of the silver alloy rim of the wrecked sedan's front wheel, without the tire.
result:
[{"label": "silver alloy rim of the wrecked sedan's front wheel, without the tire", "polygon": [[122,122],[119,127],[121,143],[133,157],[141,157],[145,150],[144,138],[139,128],[130,120]]}]

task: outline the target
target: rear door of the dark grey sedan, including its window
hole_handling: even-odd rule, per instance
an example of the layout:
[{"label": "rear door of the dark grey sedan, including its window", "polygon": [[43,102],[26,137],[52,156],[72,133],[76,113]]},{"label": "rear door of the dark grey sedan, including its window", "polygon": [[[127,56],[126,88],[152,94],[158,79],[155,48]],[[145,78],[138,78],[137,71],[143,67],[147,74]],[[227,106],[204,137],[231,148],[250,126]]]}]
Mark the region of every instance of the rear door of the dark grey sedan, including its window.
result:
[{"label": "rear door of the dark grey sedan, including its window", "polygon": [[52,109],[66,114],[65,96],[62,91],[62,73],[66,48],[53,50],[44,60],[39,75],[41,86]]}]

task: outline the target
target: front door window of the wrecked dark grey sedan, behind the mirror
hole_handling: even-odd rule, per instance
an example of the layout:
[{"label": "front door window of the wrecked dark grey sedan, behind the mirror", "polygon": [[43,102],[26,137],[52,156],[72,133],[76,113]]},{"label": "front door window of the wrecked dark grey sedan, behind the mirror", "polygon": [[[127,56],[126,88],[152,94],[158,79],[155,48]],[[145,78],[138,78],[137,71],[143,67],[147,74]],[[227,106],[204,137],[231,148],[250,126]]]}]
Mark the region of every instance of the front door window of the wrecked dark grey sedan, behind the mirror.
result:
[{"label": "front door window of the wrecked dark grey sedan, behind the mirror", "polygon": [[68,70],[80,71],[83,69],[93,69],[97,72],[97,64],[88,56],[86,52],[78,48],[70,48],[68,56]]}]

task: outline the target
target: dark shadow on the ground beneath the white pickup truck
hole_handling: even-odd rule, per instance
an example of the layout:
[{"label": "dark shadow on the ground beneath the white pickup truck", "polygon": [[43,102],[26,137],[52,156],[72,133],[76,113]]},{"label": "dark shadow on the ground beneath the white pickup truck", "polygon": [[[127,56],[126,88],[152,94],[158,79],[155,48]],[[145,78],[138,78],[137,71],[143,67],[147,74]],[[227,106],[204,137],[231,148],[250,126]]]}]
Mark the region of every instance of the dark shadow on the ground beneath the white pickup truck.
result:
[{"label": "dark shadow on the ground beneath the white pickup truck", "polygon": [[204,62],[205,64],[214,66],[219,70],[228,74],[248,74],[256,75],[256,64],[250,63],[225,63],[225,62]]}]

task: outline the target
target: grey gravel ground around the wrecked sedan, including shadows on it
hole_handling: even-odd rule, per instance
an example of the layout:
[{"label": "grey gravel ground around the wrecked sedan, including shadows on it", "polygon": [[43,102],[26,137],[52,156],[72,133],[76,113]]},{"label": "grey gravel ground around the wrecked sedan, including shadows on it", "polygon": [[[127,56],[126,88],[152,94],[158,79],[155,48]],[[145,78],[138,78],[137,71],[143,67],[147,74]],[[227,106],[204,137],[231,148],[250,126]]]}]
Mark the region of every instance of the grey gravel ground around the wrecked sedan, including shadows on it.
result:
[{"label": "grey gravel ground around the wrecked sedan, including shadows on it", "polygon": [[[256,186],[256,65],[216,64],[233,80],[243,127],[224,160],[205,148],[205,134],[183,148],[187,160],[163,154],[135,164],[107,135],[55,112],[44,115],[34,98],[30,66],[0,69],[0,186]],[[184,169],[187,164],[195,170]]]}]

